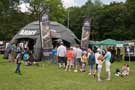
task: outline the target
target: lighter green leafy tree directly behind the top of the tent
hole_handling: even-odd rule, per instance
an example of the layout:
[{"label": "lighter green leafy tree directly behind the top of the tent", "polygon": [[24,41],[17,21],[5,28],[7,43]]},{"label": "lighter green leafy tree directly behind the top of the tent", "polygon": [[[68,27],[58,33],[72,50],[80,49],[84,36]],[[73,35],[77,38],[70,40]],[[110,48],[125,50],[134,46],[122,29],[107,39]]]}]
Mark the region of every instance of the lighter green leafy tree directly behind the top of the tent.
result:
[{"label": "lighter green leafy tree directly behind the top of the tent", "polygon": [[60,0],[31,0],[30,6],[35,19],[39,19],[39,16],[42,16],[44,9],[49,9],[50,20],[64,23],[65,10]]}]

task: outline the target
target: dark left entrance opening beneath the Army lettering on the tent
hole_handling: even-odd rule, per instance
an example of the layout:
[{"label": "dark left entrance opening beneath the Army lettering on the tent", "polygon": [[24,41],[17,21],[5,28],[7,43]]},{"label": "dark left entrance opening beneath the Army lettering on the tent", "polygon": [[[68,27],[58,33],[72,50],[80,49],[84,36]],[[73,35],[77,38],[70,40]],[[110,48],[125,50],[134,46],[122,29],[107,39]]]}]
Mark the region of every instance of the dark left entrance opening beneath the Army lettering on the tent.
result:
[{"label": "dark left entrance opening beneath the Army lettering on the tent", "polygon": [[29,50],[33,51],[35,40],[32,38],[19,38],[17,43],[22,43],[24,48],[28,47]]}]

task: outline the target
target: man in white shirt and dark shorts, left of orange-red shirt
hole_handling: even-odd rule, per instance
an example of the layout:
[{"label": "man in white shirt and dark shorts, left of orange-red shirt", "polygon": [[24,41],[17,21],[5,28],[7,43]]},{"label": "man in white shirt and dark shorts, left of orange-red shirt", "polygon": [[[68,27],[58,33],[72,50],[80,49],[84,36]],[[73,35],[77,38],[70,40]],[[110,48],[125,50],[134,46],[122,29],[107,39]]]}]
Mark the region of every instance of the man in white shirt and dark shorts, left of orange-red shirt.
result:
[{"label": "man in white shirt and dark shorts, left of orange-red shirt", "polygon": [[57,56],[58,56],[59,68],[61,68],[62,65],[65,68],[66,47],[63,45],[63,42],[60,42],[60,46],[57,48]]}]

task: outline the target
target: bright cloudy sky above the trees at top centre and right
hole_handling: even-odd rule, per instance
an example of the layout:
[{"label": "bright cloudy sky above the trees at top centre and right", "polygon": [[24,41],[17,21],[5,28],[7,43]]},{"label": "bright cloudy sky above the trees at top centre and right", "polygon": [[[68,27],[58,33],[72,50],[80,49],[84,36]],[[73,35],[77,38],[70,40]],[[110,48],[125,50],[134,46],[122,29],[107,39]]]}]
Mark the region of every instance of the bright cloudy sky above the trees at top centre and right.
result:
[{"label": "bright cloudy sky above the trees at top centre and right", "polygon": [[[71,6],[81,6],[85,4],[87,0],[62,0],[64,7],[71,7]],[[101,0],[104,4],[109,4],[110,2],[125,2],[126,0]]]}]

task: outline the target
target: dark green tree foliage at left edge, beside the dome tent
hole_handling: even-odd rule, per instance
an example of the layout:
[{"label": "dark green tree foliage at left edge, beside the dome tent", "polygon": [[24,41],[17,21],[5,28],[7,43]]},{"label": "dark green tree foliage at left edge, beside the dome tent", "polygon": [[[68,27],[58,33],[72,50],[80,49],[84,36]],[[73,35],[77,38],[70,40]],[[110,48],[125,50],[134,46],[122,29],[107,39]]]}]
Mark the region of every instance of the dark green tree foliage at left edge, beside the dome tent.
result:
[{"label": "dark green tree foliage at left edge, beside the dome tent", "polygon": [[18,4],[19,0],[0,1],[0,40],[10,40],[31,21],[31,16],[18,12]]}]

